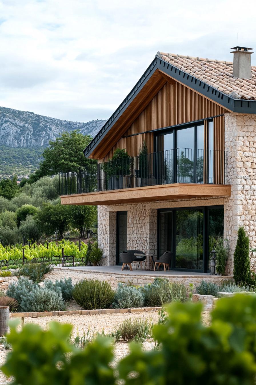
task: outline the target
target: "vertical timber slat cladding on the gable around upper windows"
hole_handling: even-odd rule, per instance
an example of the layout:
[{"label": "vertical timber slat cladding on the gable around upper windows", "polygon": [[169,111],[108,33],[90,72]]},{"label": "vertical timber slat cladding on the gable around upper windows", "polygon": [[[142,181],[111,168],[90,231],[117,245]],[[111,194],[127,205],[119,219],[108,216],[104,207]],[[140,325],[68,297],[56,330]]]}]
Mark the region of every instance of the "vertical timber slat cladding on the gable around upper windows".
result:
[{"label": "vertical timber slat cladding on the gable around upper windows", "polygon": [[[211,116],[224,114],[226,110],[197,92],[175,82],[165,83],[141,114],[135,119],[125,134],[104,158],[107,161],[117,148],[124,148],[130,156],[137,156],[143,141],[148,152],[153,152],[153,134],[145,131],[189,123]],[[224,116],[214,119],[216,123],[215,149],[224,149]],[[221,131],[220,131],[221,130]],[[139,134],[134,135],[133,134]]]}]

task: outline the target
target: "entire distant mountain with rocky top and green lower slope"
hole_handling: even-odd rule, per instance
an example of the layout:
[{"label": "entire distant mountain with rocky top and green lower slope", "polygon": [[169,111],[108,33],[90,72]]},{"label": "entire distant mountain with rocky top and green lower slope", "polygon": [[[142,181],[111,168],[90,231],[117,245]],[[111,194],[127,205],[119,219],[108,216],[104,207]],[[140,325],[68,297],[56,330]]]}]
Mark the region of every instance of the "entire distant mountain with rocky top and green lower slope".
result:
[{"label": "entire distant mountain with rocky top and green lower slope", "polygon": [[49,140],[63,131],[80,130],[94,137],[106,120],[71,122],[48,116],[0,107],[0,178],[35,171]]}]

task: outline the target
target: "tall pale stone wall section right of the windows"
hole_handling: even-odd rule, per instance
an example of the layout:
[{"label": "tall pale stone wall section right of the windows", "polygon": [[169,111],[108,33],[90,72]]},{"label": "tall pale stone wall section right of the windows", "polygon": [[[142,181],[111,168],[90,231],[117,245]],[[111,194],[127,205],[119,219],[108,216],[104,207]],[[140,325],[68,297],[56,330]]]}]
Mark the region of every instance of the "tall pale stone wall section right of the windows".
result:
[{"label": "tall pale stone wall section right of the windows", "polygon": [[[250,246],[256,246],[256,116],[225,114],[226,182],[231,197],[225,199],[224,227],[230,243],[227,273],[233,271],[233,253],[239,226],[249,235]],[[251,256],[251,263],[256,262]]]}]

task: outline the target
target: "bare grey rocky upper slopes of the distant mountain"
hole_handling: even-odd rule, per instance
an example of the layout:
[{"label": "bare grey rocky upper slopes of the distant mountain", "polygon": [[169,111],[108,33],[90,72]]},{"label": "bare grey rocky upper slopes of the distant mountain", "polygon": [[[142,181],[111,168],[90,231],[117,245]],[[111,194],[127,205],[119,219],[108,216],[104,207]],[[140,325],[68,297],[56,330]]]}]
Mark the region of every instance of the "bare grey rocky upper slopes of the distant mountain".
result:
[{"label": "bare grey rocky upper slopes of the distant mountain", "polygon": [[62,121],[33,112],[0,107],[0,144],[9,147],[46,147],[49,140],[55,140],[63,131],[79,129],[83,134],[95,136],[105,122]]}]

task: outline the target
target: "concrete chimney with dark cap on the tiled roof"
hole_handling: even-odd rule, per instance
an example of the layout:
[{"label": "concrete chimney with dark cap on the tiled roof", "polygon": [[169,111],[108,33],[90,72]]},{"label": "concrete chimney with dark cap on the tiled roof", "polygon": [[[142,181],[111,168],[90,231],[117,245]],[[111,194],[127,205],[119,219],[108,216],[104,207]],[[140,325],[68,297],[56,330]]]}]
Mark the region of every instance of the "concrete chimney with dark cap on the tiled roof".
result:
[{"label": "concrete chimney with dark cap on the tiled roof", "polygon": [[251,79],[251,51],[253,48],[246,47],[233,47],[235,51],[231,51],[234,54],[233,61],[233,77],[239,79]]}]

